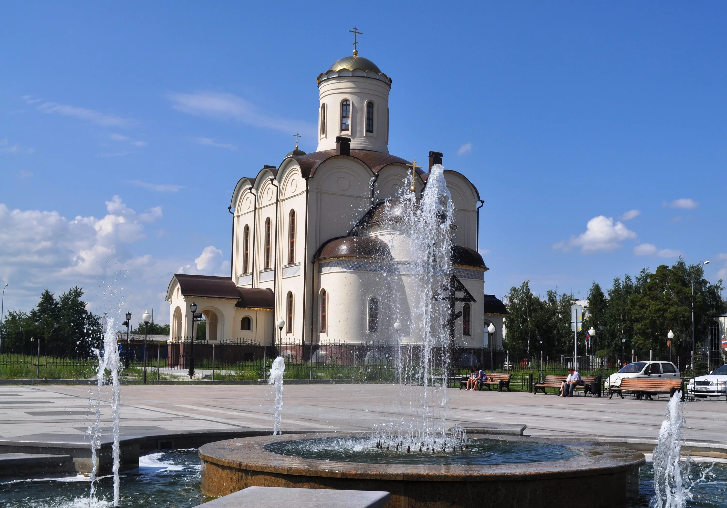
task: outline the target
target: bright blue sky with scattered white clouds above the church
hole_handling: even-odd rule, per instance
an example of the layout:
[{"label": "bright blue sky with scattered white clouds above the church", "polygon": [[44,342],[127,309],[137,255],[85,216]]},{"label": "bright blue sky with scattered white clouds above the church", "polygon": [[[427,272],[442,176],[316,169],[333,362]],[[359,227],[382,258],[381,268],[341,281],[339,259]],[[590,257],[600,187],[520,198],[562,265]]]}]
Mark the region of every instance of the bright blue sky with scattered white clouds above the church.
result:
[{"label": "bright blue sky with scattered white clouds above the church", "polygon": [[726,22],[718,1],[6,2],[4,306],[78,285],[164,323],[172,273],[229,275],[233,188],[295,132],[316,149],[316,76],[354,25],[393,78],[390,153],[443,152],[485,201],[486,293],[585,297],[679,256],[727,278]]}]

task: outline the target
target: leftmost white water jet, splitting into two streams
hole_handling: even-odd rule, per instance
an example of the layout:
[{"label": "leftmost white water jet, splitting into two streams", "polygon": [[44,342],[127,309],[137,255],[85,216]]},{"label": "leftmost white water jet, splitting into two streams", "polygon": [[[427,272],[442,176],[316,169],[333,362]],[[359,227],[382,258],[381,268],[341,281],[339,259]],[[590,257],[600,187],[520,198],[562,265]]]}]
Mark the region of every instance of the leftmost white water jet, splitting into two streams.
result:
[{"label": "leftmost white water jet, splitting into two streams", "polygon": [[101,390],[106,382],[106,371],[109,371],[111,374],[111,384],[113,386],[113,396],[111,398],[111,417],[113,419],[113,423],[111,424],[111,430],[113,432],[113,506],[119,506],[119,491],[121,487],[121,481],[119,479],[119,467],[121,465],[119,456],[119,401],[121,395],[119,390],[119,370],[121,370],[121,360],[119,359],[119,349],[116,346],[116,331],[113,329],[113,322],[113,318],[110,318],[106,323],[103,336],[103,350],[92,348],[98,359],[98,370],[96,371],[97,397],[92,401],[95,409],[95,421],[92,427],[89,427],[92,444],[91,461],[93,464],[91,470],[91,492],[88,499],[89,506],[96,506],[103,502],[95,499],[95,496],[96,480],[98,477],[97,450],[100,448],[101,441]]}]

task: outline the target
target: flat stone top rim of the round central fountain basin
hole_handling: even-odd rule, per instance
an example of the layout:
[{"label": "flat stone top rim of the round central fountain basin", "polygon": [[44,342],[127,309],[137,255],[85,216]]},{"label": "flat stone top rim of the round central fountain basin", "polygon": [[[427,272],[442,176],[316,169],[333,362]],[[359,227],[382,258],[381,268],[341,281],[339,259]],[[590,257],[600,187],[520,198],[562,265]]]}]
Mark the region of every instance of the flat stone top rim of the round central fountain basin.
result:
[{"label": "flat stone top rim of the round central fountain basin", "polygon": [[[628,448],[593,442],[574,442],[565,438],[560,444],[579,448],[581,453],[571,459],[523,464],[488,465],[402,465],[366,464],[361,462],[323,461],[280,455],[265,449],[268,443],[308,440],[324,437],[361,437],[367,432],[316,432],[305,435],[267,435],[207,443],[198,450],[204,462],[221,467],[302,477],[337,477],[366,480],[409,481],[496,481],[543,480],[548,478],[585,477],[631,470],[646,464],[643,453]],[[473,438],[548,443],[521,436],[471,435]]]}]

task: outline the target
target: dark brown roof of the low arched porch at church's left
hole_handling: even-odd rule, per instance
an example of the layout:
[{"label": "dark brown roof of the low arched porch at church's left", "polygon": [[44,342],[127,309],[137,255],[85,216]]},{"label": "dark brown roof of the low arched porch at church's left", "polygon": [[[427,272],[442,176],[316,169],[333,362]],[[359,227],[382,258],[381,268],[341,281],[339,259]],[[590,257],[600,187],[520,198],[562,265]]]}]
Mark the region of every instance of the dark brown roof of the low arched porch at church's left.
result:
[{"label": "dark brown roof of the low arched porch at church's left", "polygon": [[185,297],[234,299],[235,307],[272,309],[274,305],[272,290],[238,288],[229,277],[175,273],[174,278]]}]

